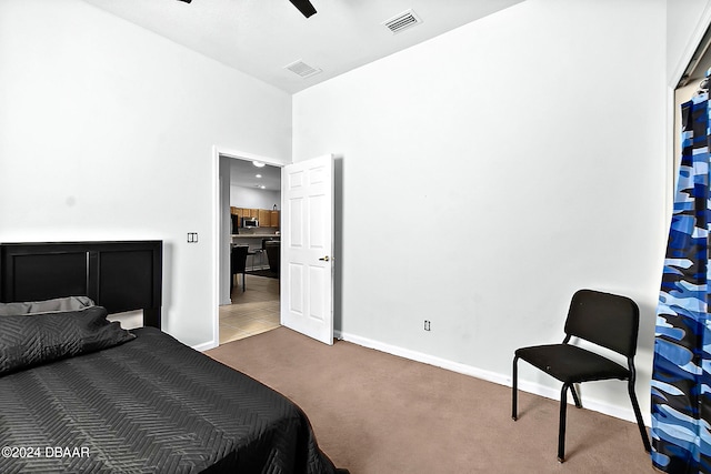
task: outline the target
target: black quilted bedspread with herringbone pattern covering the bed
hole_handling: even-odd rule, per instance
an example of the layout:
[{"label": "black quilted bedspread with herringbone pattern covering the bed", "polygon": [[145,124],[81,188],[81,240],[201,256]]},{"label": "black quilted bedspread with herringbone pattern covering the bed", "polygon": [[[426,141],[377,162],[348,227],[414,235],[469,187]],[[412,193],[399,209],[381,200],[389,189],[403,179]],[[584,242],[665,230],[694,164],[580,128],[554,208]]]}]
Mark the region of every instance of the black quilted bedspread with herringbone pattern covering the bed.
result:
[{"label": "black quilted bedspread with herringbone pattern covering the bed", "polygon": [[0,376],[1,473],[333,473],[283,395],[151,327]]}]

